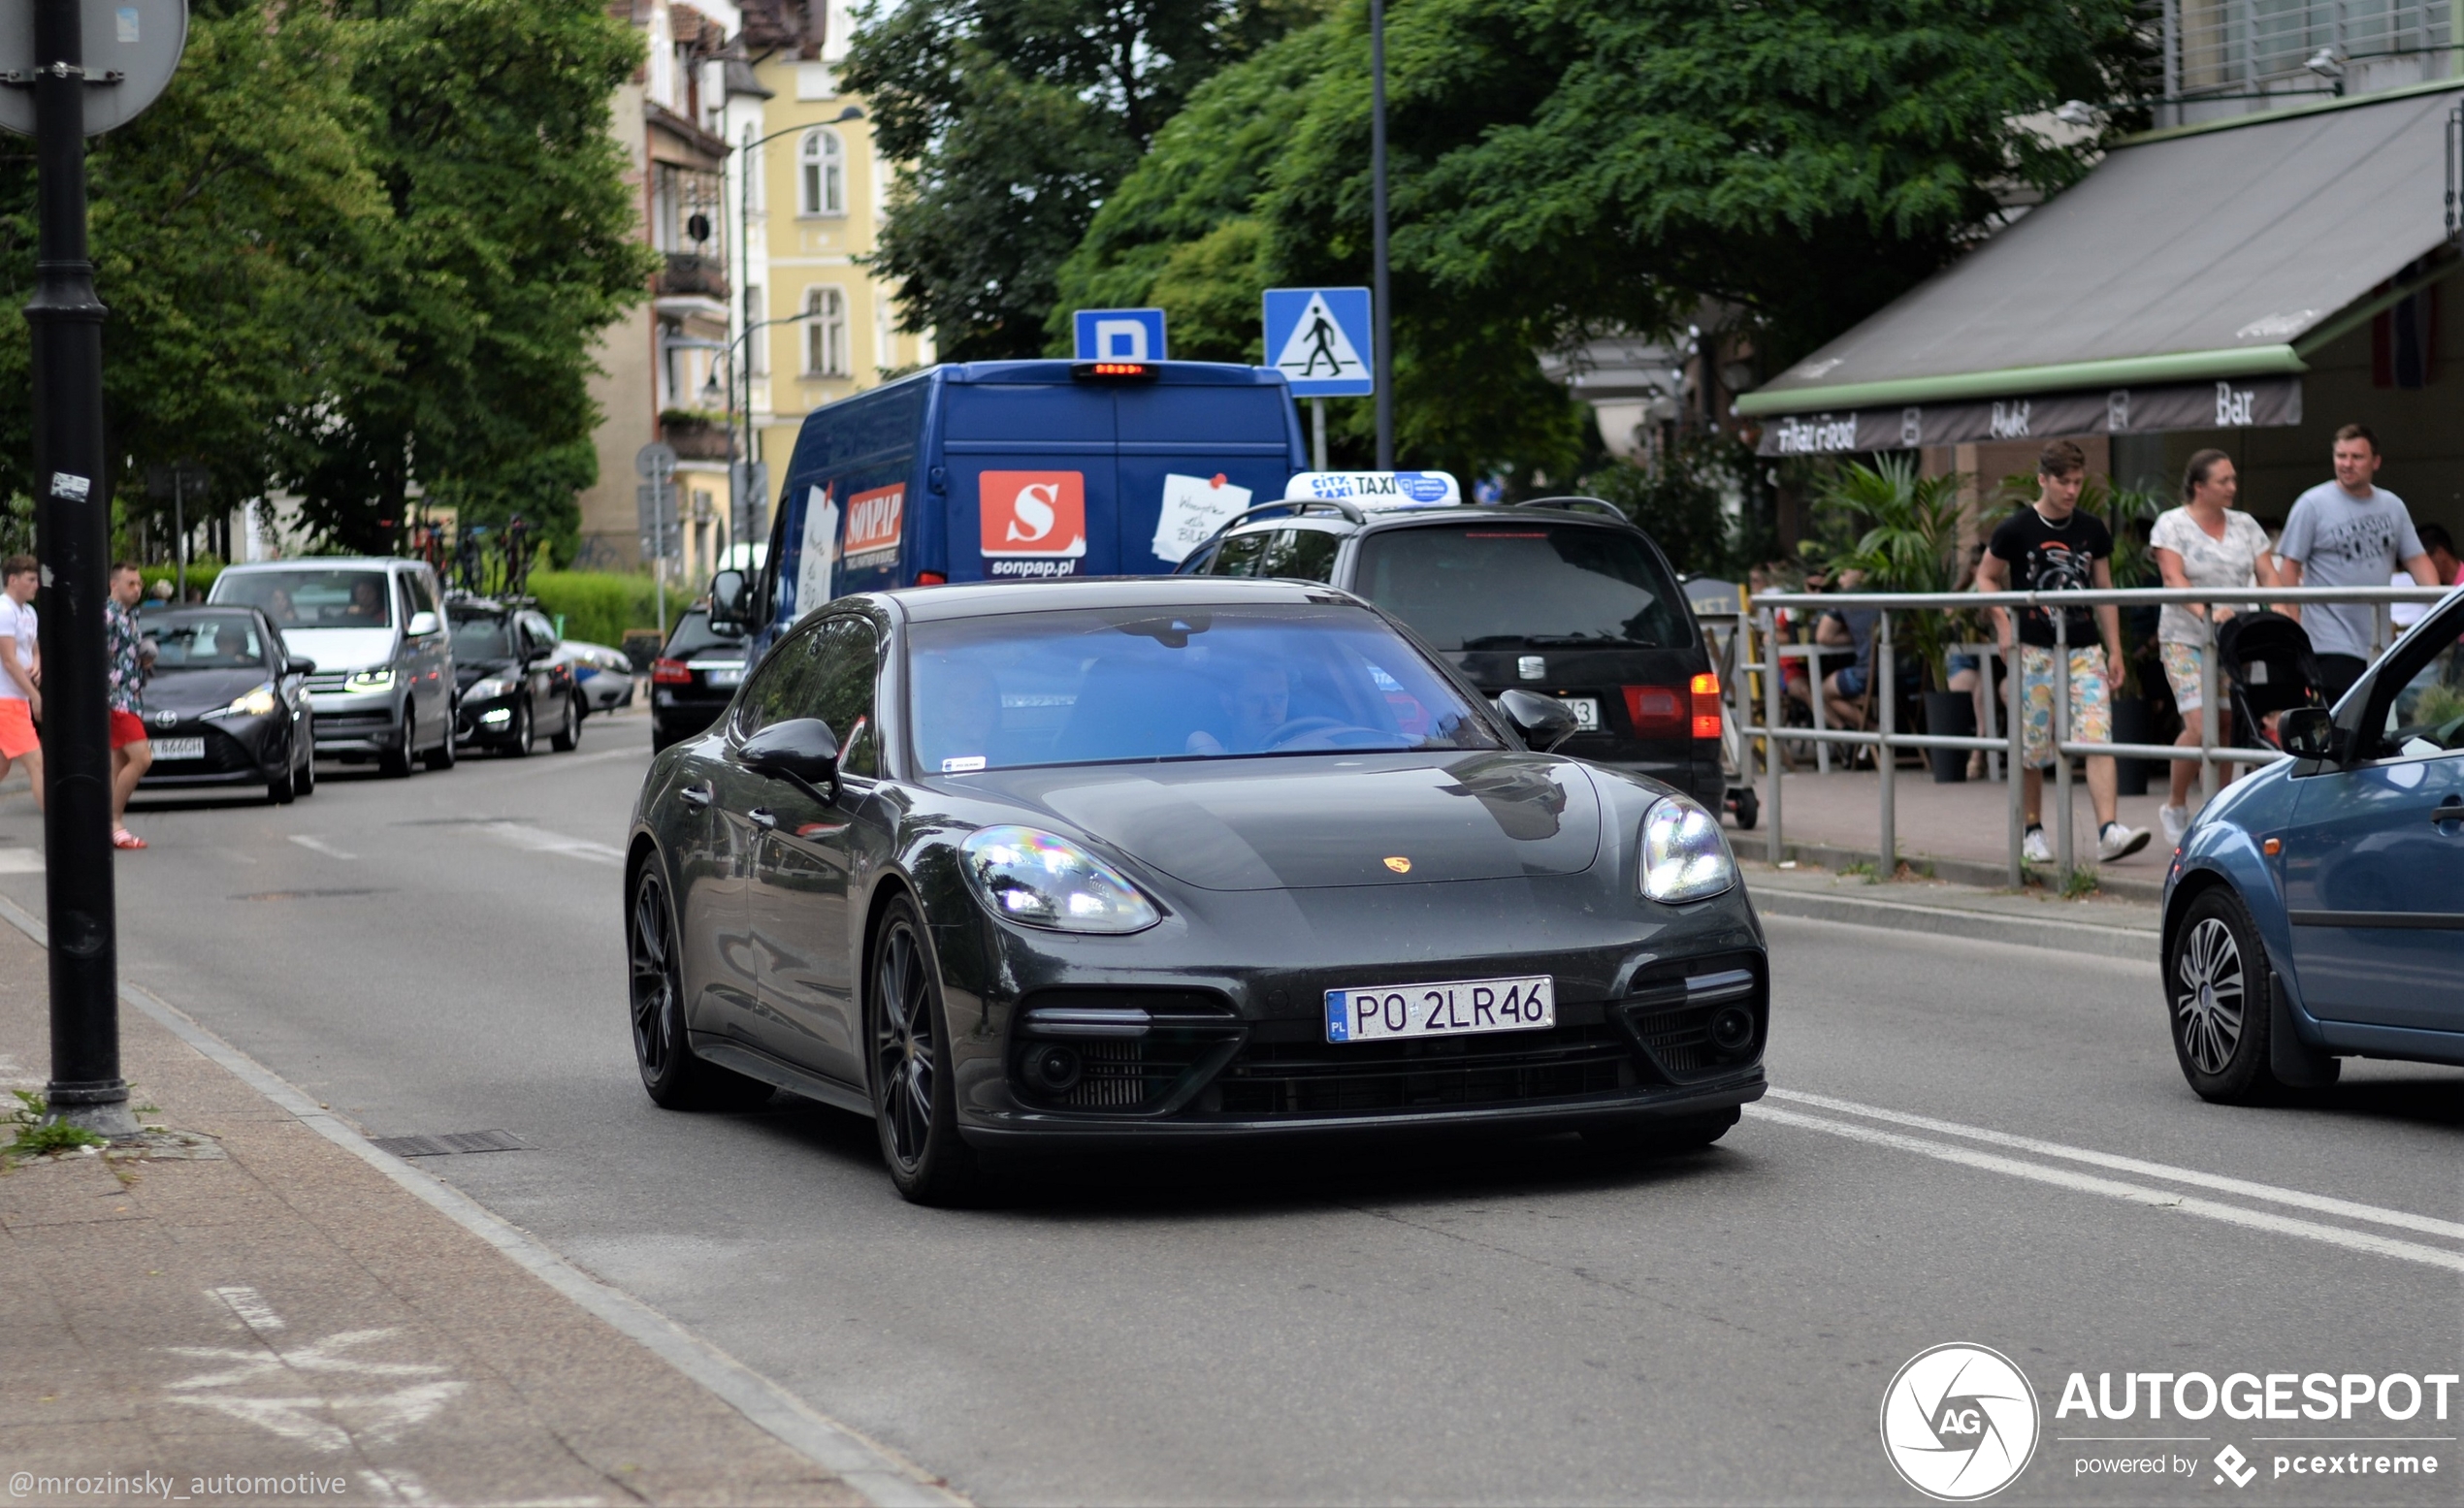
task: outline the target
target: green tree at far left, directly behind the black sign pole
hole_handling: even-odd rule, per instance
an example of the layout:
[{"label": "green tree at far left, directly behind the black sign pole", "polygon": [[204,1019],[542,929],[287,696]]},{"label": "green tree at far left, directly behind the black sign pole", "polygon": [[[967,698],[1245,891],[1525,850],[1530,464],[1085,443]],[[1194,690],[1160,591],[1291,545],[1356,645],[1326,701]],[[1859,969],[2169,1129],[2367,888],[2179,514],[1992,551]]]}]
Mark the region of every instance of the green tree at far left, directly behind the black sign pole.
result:
[{"label": "green tree at far left, directly behind the black sign pole", "polygon": [[[86,153],[103,323],[103,407],[126,515],[143,468],[190,461],[227,508],[293,473],[298,426],[392,360],[370,303],[384,197],[362,158],[352,27],[323,5],[197,0],[160,101]],[[0,387],[30,384],[15,308],[34,283],[34,153],[0,155]],[[0,407],[0,490],[27,495],[32,414]],[[170,505],[160,513],[168,517]],[[200,498],[190,498],[190,520]]]}]

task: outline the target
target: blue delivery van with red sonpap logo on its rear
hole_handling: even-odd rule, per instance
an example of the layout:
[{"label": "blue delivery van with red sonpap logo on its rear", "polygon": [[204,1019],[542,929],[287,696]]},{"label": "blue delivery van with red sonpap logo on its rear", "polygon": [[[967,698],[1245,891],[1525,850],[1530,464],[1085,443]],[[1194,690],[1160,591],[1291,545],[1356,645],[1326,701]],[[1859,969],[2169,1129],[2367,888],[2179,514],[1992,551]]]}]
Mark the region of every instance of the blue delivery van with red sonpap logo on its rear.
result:
[{"label": "blue delivery van with red sonpap logo on its rear", "polygon": [[931,367],[806,416],[747,616],[769,641],[850,591],[1170,574],[1303,468],[1274,367]]}]

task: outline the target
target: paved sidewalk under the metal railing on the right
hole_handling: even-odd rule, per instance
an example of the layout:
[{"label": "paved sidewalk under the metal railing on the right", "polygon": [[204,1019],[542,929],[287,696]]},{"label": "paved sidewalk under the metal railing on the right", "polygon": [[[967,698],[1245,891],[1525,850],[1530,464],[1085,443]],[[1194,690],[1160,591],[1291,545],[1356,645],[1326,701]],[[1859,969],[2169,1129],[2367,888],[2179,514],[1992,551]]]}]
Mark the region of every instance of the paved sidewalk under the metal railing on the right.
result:
[{"label": "paved sidewalk under the metal railing on the right", "polygon": [[[1781,838],[1789,845],[1806,845],[1801,857],[1846,862],[1848,857],[1873,860],[1882,845],[1882,779],[1870,771],[1789,774],[1784,791]],[[1762,786],[1757,786],[1762,791]],[[2087,781],[2075,781],[2072,798],[2072,857],[2082,870],[2097,870],[2097,880],[2119,894],[2156,899],[2163,887],[2166,865],[2173,850],[2163,840],[2156,811],[2163,806],[2166,786],[2149,784],[2149,796],[2124,796],[2119,816],[2131,828],[2149,833],[2149,845],[2126,860],[2097,865],[2097,806],[2087,798]],[[1922,769],[1902,769],[1892,788],[1895,825],[1900,830],[1902,860],[1934,860],[1937,872],[1976,885],[2001,885],[2011,855],[2011,796],[2001,781],[1964,781],[1937,786]],[[2190,811],[2198,811],[2198,788],[2190,788]],[[2053,840],[2053,781],[2045,784],[2045,838]],[[1772,806],[1762,806],[1762,825],[1752,833],[1730,828],[1730,845],[1740,855],[1762,857],[1769,838]]]}]

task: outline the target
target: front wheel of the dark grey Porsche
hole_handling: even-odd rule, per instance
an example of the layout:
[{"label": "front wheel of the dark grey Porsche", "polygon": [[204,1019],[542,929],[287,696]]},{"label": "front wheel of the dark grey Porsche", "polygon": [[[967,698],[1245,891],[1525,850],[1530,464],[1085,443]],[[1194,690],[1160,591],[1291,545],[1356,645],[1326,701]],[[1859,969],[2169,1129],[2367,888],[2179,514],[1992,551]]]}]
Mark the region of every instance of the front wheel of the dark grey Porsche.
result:
[{"label": "front wheel of the dark grey Porsche", "polygon": [[899,897],[872,944],[872,1124],[890,1183],[917,1205],[961,1205],[976,1193],[976,1156],[958,1136],[949,1018],[924,917]]}]

